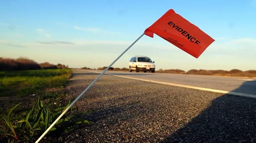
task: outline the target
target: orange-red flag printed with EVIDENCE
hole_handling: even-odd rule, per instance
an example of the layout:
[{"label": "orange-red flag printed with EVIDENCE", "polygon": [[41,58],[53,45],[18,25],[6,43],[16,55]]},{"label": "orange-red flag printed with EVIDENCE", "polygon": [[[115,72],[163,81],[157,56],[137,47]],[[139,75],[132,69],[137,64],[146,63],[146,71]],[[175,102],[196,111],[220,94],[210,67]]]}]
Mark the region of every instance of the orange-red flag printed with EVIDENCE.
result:
[{"label": "orange-red flag printed with EVIDENCE", "polygon": [[174,44],[195,58],[215,40],[193,25],[173,9],[167,11],[150,27],[145,29],[145,35],[153,38],[154,34]]}]

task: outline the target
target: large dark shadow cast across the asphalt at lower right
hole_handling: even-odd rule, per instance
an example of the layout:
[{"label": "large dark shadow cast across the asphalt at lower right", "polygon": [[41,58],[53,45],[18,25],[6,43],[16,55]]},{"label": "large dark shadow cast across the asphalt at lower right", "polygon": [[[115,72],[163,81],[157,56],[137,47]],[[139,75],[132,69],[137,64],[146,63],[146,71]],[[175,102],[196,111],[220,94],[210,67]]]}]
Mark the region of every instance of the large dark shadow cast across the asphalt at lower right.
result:
[{"label": "large dark shadow cast across the asphalt at lower right", "polygon": [[[256,81],[244,82],[232,92],[249,90],[252,85]],[[256,99],[222,95],[163,142],[256,142]]]}]

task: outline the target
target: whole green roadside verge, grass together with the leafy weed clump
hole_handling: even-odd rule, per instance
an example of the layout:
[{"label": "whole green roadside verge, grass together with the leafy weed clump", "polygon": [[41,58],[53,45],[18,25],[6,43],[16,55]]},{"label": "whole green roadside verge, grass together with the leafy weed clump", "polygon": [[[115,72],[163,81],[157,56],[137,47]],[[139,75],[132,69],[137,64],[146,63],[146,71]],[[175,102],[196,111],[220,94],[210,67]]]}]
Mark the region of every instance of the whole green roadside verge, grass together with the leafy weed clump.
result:
[{"label": "whole green roadside verge, grass together with the leafy weed clump", "polygon": [[[38,139],[74,100],[66,103],[63,92],[71,75],[71,69],[0,71],[0,142],[10,139],[30,143]],[[70,108],[43,140],[57,142],[78,124],[93,123],[79,118],[86,113],[89,111],[80,113]]]}]

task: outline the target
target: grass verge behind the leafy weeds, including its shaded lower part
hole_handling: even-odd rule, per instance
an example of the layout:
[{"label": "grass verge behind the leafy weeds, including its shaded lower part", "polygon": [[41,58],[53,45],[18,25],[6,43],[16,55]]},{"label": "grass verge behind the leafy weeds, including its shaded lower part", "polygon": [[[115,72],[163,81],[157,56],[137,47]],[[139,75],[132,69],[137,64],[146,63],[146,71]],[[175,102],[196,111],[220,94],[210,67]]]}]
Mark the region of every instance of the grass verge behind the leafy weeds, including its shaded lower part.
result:
[{"label": "grass verge behind the leafy weeds, including its shaded lower part", "polygon": [[54,102],[71,74],[71,69],[0,71],[0,114],[6,114],[17,103],[22,104],[15,114],[26,111],[38,96]]}]

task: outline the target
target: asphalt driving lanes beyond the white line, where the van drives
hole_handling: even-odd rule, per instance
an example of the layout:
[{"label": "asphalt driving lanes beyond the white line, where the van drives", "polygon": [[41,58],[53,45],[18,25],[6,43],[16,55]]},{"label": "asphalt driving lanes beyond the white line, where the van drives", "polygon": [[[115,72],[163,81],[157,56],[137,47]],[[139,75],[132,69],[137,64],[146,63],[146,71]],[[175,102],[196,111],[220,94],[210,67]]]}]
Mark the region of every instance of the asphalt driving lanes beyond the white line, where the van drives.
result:
[{"label": "asphalt driving lanes beyond the white line, where the van drives", "polygon": [[[102,72],[100,70],[87,70]],[[256,78],[106,71],[106,74],[256,95]]]}]

